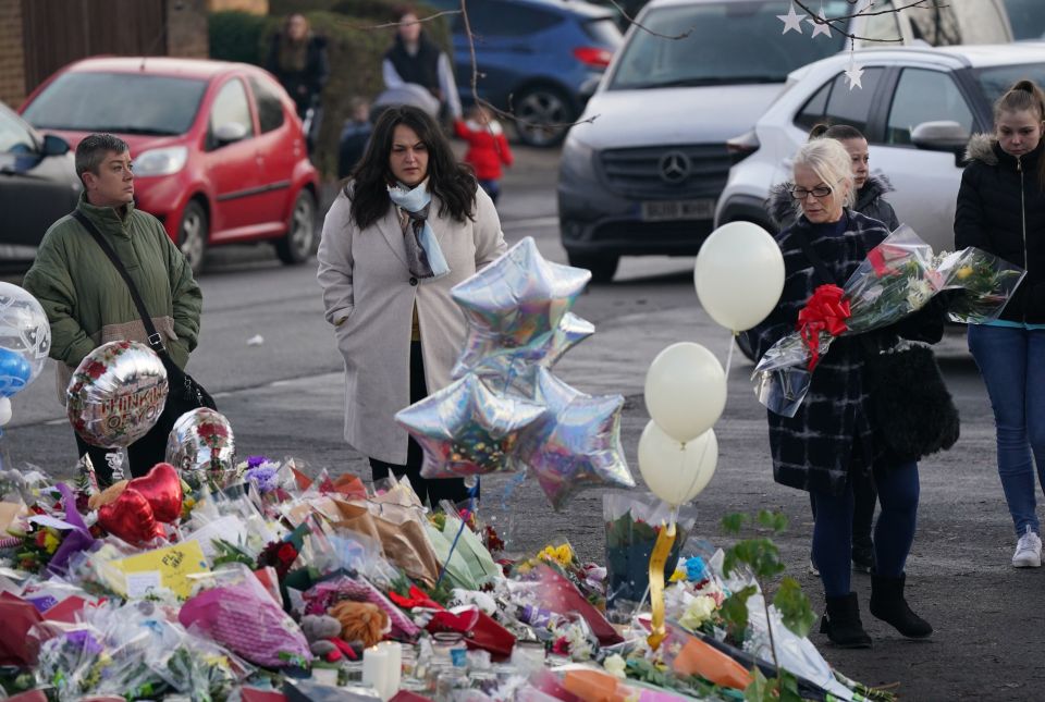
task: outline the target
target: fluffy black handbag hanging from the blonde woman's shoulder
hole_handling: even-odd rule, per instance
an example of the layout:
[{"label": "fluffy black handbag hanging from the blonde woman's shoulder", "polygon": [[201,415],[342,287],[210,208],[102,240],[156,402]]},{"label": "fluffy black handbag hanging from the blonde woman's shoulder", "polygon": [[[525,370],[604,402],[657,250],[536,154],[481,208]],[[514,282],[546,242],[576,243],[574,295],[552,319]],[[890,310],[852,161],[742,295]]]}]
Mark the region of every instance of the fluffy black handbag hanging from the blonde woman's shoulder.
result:
[{"label": "fluffy black handbag hanging from the blonde woman's shoulder", "polygon": [[[806,233],[792,229],[791,234],[821,282],[837,285]],[[882,332],[888,333],[888,328],[864,335]],[[884,352],[874,343],[863,346],[869,349],[863,362],[868,419],[886,457],[908,463],[954,446],[961,422],[933,349],[921,344],[897,345]]]}]

